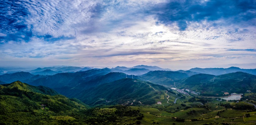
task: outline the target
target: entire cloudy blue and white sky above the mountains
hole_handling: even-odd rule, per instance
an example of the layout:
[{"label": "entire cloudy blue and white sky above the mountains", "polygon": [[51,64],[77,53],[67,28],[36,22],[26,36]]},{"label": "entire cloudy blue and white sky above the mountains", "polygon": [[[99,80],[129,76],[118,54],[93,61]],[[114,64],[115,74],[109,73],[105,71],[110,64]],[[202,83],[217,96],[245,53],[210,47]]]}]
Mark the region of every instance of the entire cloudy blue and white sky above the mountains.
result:
[{"label": "entire cloudy blue and white sky above the mountains", "polygon": [[1,0],[0,66],[256,68],[255,0]]}]

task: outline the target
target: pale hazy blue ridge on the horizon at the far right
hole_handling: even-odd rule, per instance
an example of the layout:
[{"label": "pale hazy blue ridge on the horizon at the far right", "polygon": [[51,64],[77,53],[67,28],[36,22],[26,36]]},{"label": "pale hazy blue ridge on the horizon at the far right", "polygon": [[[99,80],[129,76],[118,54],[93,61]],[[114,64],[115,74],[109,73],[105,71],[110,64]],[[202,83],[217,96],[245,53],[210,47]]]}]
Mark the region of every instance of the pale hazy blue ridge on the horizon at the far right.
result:
[{"label": "pale hazy blue ridge on the horizon at the far right", "polygon": [[229,67],[229,68],[192,68],[190,71],[199,72],[203,74],[210,74],[210,75],[223,75],[227,73],[234,73],[234,72],[245,72],[249,74],[256,75],[256,69],[240,69],[238,67]]}]

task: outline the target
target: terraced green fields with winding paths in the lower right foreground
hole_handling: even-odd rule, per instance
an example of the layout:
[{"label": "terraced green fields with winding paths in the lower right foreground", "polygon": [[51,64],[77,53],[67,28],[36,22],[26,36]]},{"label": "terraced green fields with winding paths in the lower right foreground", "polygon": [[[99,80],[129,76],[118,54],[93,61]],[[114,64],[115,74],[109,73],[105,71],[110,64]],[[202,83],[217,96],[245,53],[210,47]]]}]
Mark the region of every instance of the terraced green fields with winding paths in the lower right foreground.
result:
[{"label": "terraced green fields with winding paths in the lower right foreground", "polygon": [[[186,103],[186,106],[188,105],[193,105],[193,103]],[[185,110],[177,110],[175,113],[170,113],[168,111],[184,107],[180,104],[172,104],[168,106],[165,105],[165,108],[161,109],[158,109],[160,108],[160,106],[156,108],[140,107],[139,110],[144,115],[144,118],[141,120],[141,124],[173,125],[175,123],[175,125],[202,125],[206,123],[245,123],[244,125],[246,125],[256,122],[256,115],[254,115],[254,113],[256,114],[256,111],[249,112],[251,116],[249,118],[246,118],[246,111],[224,109],[224,107],[222,106],[211,103],[206,105],[208,105],[208,108],[210,110],[205,107],[188,108]],[[218,112],[219,115],[217,115]],[[175,121],[175,118],[184,118],[185,121],[178,122]],[[192,119],[197,119],[197,121],[191,121]]]}]

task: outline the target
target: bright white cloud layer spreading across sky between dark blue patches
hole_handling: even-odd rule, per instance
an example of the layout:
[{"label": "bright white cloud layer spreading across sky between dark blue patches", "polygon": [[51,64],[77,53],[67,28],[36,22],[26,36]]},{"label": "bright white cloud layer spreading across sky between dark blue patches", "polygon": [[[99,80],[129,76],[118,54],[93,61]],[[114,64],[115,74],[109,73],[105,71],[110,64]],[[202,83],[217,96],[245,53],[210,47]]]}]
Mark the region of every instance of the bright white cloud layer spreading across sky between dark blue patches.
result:
[{"label": "bright white cloud layer spreading across sky between dark blue patches", "polygon": [[[157,24],[151,7],[165,1],[27,1],[33,36],[28,42],[0,45],[2,65],[17,60],[34,65],[161,65],[188,69],[255,62],[255,26],[225,25],[225,20]],[[45,41],[44,35],[58,38]],[[0,34],[0,36],[5,34]],[[176,65],[176,66],[174,66]]]}]

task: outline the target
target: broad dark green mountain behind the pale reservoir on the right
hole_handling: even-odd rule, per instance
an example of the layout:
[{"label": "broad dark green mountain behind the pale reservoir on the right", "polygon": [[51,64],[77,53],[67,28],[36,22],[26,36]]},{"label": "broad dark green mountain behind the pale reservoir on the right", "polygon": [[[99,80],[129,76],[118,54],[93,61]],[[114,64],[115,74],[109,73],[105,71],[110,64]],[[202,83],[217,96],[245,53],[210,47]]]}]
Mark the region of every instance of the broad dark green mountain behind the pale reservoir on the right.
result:
[{"label": "broad dark green mountain behind the pale reservoir on the right", "polygon": [[256,76],[244,72],[224,75],[197,74],[175,82],[180,89],[198,91],[204,95],[223,95],[229,93],[256,92]]}]

